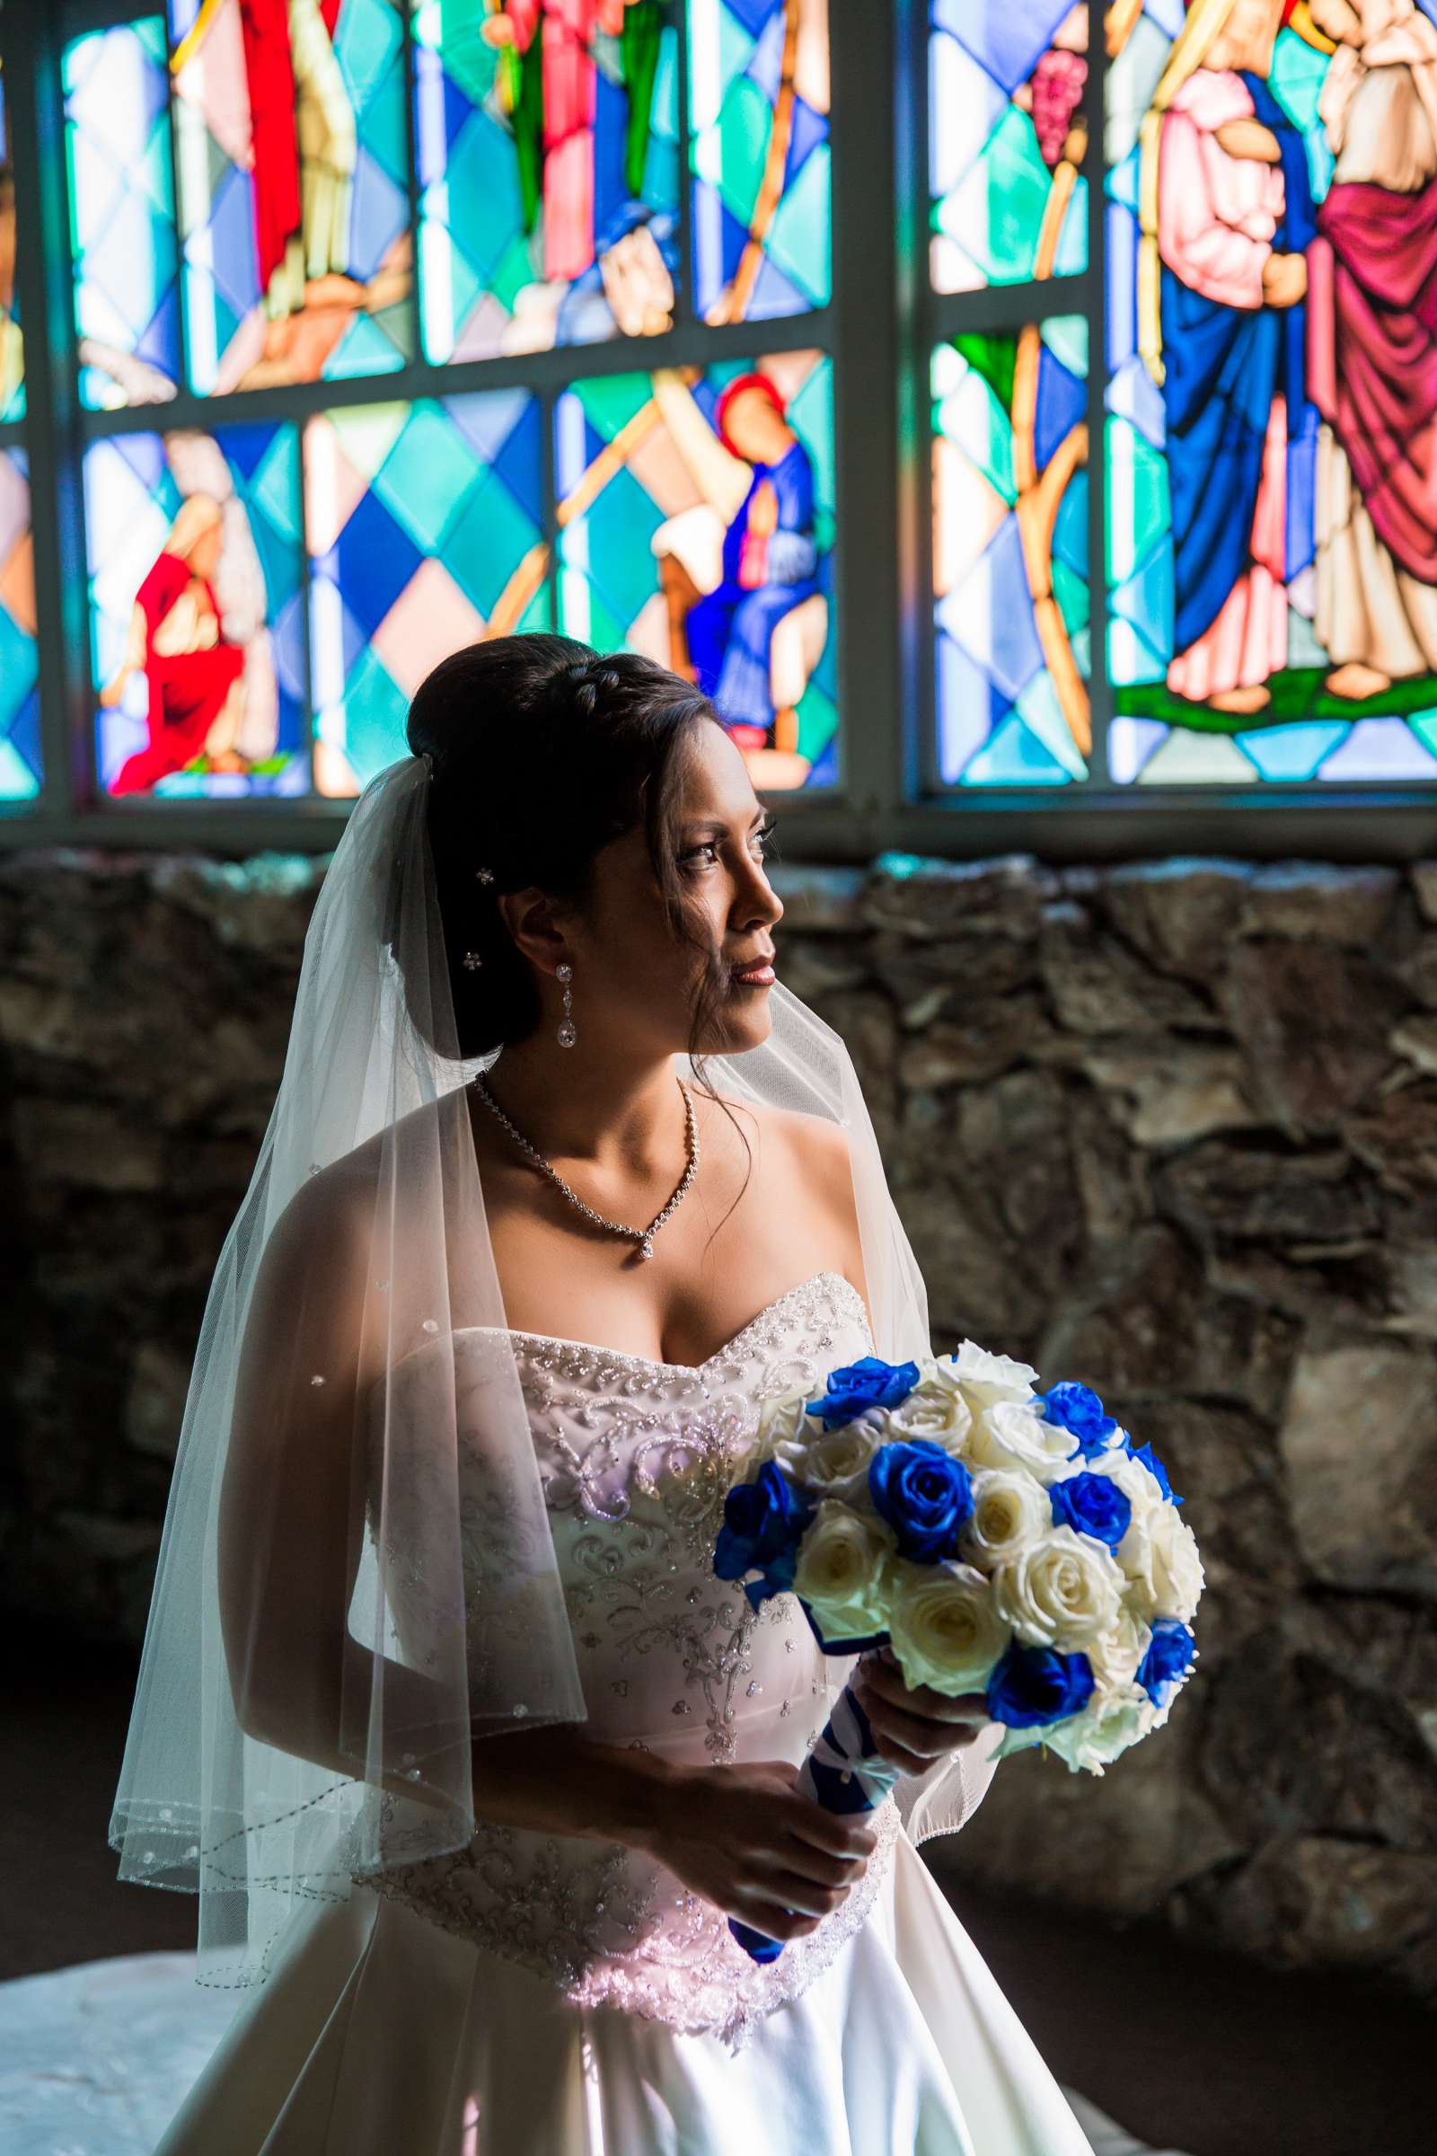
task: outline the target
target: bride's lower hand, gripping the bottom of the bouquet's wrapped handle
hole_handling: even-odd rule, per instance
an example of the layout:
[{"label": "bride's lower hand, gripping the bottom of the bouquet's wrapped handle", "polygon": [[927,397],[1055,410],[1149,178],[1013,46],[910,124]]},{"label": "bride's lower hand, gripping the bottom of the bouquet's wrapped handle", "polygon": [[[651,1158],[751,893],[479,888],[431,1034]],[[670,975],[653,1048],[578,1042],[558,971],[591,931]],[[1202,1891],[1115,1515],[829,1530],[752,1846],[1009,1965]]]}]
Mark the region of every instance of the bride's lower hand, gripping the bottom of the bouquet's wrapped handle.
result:
[{"label": "bride's lower hand, gripping the bottom of the bouquet's wrapped handle", "polygon": [[786,1759],[676,1768],[642,1848],[726,1917],[804,1938],[847,1902],[877,1835],[814,1805],[797,1774]]}]

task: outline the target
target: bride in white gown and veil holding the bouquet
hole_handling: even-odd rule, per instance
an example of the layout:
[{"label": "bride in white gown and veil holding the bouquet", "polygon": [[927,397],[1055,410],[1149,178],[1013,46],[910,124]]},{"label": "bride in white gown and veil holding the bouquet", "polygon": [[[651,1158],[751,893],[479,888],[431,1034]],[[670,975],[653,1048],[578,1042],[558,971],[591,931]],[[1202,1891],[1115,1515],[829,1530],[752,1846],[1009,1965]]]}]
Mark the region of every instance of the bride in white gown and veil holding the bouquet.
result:
[{"label": "bride in white gown and veil holding the bouquet", "polygon": [[[1090,2156],[918,1856],[980,1695],[713,1576],[765,1397],[926,1352],[713,707],[455,653],[364,789],[205,1311],[110,1841],[237,2014],[159,2156]],[[782,1943],[752,1962],[728,1917]]]}]

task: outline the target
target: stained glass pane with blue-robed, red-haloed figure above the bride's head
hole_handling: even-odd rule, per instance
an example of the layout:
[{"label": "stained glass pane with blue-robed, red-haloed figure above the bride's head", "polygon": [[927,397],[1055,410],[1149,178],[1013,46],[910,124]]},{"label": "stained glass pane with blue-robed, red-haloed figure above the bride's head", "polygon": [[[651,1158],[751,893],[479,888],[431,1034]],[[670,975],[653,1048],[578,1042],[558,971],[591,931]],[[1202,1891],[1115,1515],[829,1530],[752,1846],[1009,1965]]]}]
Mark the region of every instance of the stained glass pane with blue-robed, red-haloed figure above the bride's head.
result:
[{"label": "stained glass pane with blue-robed, red-haloed figure above the bride's head", "polygon": [[575,382],[554,427],[560,630],[698,681],[754,785],[832,783],[829,360]]}]

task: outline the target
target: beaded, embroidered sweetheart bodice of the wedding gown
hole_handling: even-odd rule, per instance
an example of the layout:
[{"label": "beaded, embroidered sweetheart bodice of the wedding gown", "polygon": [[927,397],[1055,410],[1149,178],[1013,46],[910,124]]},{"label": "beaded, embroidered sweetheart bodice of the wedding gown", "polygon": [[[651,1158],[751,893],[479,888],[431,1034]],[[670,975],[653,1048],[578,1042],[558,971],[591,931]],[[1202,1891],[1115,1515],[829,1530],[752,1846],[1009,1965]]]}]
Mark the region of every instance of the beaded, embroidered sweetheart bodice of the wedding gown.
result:
[{"label": "beaded, embroidered sweetheart bodice of the wedding gown", "polygon": [[[455,1354],[478,1352],[485,1330],[457,1332]],[[791,1595],[752,1611],[715,1578],[713,1539],[765,1397],[819,1393],[829,1369],[873,1352],[857,1289],[817,1272],[700,1365],[539,1332],[511,1339],[588,1705],[584,1736],[694,1766],[797,1764],[853,1662],[819,1651]],[[463,1425],[459,1442],[463,1477]],[[879,1846],[847,1902],[765,1966],[711,1902],[623,1843],[485,1822],[465,1850],[366,1884],[534,1968],[575,2003],[713,2029],[739,2046],[862,1925],[898,1833],[892,1798],[873,1824]]]}]

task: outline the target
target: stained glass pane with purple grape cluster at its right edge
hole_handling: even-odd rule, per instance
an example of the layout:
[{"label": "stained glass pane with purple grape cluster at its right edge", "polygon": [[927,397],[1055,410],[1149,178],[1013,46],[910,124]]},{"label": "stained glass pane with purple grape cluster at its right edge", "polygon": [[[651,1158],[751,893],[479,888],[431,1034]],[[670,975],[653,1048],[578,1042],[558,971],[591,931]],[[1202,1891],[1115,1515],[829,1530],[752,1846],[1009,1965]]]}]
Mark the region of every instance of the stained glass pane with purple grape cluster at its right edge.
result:
[{"label": "stained glass pane with purple grape cluster at its right edge", "polygon": [[1086,84],[1086,0],[929,0],[935,291],[1088,267]]}]

